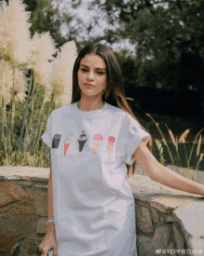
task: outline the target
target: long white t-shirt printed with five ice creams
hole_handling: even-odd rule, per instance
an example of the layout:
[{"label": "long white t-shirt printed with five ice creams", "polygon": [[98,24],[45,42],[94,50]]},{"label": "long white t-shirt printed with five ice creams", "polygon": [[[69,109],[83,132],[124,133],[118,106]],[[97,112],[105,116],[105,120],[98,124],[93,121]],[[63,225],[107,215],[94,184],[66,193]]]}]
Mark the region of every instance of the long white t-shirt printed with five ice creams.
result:
[{"label": "long white t-shirt printed with five ice creams", "polygon": [[131,115],[107,102],[91,112],[75,102],[49,115],[41,138],[52,149],[58,256],[137,255],[125,163],[134,163],[145,137]]}]

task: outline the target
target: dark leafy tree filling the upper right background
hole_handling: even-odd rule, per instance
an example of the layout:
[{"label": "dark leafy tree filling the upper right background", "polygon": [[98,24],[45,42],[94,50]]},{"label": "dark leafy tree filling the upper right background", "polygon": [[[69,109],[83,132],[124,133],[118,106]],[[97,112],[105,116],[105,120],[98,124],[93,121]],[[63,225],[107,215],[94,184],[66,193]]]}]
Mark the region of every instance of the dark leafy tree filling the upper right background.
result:
[{"label": "dark leafy tree filling the upper right background", "polygon": [[[128,39],[136,49],[137,85],[192,88],[204,95],[204,2],[201,0],[93,0],[90,9],[106,14],[106,40]],[[111,36],[109,36],[111,34]],[[149,80],[149,78],[152,79]]]}]

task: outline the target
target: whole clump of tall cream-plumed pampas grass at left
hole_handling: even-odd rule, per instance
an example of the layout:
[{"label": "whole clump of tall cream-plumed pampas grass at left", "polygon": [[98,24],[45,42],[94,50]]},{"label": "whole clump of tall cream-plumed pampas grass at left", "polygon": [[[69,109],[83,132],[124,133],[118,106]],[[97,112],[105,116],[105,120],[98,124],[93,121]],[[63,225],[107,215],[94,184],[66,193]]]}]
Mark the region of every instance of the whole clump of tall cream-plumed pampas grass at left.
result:
[{"label": "whole clump of tall cream-plumed pampas grass at left", "polygon": [[29,18],[21,0],[10,0],[9,5],[1,2],[0,165],[46,167],[49,160],[43,154],[41,135],[47,116],[56,107],[54,100],[57,107],[70,103],[77,50],[69,42],[55,59],[56,43],[49,32],[30,38]]}]

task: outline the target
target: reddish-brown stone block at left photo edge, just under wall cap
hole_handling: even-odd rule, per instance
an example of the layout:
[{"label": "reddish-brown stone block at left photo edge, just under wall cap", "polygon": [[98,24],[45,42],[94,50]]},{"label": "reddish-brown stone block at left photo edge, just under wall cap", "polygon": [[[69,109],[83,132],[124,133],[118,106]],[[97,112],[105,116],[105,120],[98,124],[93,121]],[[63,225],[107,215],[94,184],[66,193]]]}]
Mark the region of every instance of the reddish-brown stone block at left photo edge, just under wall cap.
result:
[{"label": "reddish-brown stone block at left photo edge, just under wall cap", "polygon": [[0,182],[0,207],[18,200],[30,200],[31,197],[14,182]]}]

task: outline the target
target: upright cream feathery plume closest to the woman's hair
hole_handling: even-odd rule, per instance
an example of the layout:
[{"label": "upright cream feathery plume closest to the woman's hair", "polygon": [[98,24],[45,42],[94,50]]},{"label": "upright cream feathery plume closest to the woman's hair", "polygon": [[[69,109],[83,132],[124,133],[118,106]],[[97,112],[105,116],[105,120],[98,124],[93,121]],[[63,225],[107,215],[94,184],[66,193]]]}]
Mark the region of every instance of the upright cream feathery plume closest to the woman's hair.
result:
[{"label": "upright cream feathery plume closest to the woman's hair", "polygon": [[50,82],[54,92],[54,101],[57,104],[70,104],[72,94],[72,71],[77,58],[77,48],[74,41],[67,42],[57,52],[53,61],[53,71]]}]

